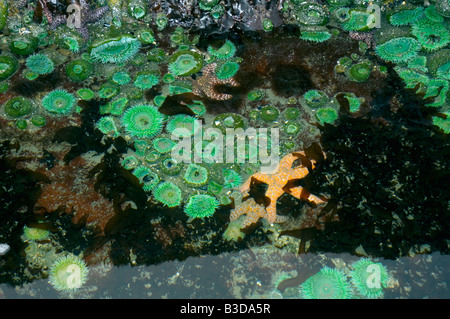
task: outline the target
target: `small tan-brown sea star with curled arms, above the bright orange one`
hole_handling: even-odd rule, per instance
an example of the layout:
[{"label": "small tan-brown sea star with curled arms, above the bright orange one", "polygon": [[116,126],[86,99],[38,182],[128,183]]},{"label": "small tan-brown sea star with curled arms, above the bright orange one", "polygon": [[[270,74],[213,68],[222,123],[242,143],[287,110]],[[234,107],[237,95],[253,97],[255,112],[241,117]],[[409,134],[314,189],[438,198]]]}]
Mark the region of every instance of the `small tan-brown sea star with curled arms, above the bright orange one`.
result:
[{"label": "small tan-brown sea star with curled arms, above the bright orange one", "polygon": [[193,82],[192,92],[195,95],[206,95],[212,100],[224,101],[229,100],[233,96],[231,94],[219,93],[215,90],[217,85],[229,84],[233,87],[239,86],[233,78],[220,80],[215,74],[217,63],[210,63],[202,70],[202,75]]}]

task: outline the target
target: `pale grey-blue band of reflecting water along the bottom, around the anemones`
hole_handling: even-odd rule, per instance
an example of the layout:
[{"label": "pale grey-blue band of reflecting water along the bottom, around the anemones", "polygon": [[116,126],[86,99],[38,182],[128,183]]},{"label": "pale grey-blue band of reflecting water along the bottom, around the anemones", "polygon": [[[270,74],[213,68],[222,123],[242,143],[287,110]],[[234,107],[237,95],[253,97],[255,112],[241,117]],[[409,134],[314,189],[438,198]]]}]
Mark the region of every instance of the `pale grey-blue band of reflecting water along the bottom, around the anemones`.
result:
[{"label": "pale grey-blue band of reflecting water along the bottom, around the anemones", "polygon": [[[299,285],[323,267],[342,271],[350,281],[351,264],[360,257],[350,254],[296,256],[273,246],[254,247],[237,253],[190,257],[184,261],[148,266],[90,267],[88,282],[78,291],[55,291],[47,280],[20,287],[0,285],[3,298],[301,298]],[[385,299],[450,298],[450,256],[440,253],[376,259],[386,266],[389,281]],[[361,298],[355,294],[354,298]]]}]

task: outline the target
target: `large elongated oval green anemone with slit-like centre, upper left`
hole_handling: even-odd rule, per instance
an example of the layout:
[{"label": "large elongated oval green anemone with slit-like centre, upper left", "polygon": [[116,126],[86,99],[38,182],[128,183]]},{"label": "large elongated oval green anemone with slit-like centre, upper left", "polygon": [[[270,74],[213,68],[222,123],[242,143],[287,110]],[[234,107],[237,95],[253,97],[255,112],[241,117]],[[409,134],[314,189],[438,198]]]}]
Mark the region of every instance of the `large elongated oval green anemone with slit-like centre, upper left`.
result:
[{"label": "large elongated oval green anemone with slit-like centre, upper left", "polygon": [[140,49],[141,42],[128,35],[95,42],[91,58],[101,63],[119,63],[131,59]]}]

